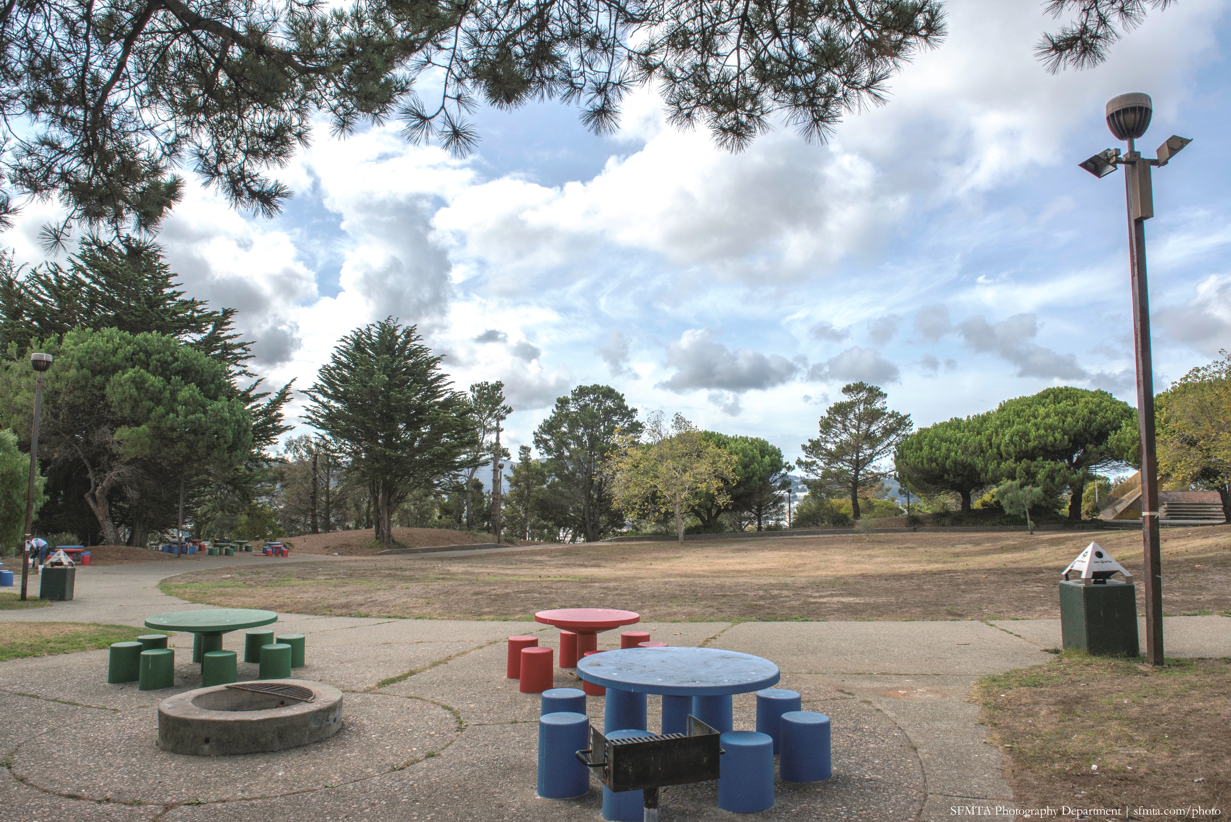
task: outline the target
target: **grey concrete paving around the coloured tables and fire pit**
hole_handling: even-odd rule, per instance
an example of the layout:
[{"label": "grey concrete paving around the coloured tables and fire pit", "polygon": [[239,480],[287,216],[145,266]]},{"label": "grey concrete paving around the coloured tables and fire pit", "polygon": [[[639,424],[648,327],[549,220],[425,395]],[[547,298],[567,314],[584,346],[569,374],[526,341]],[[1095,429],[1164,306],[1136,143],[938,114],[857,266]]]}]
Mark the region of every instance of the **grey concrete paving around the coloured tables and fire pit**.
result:
[{"label": "grey concrete paving around the coloured tables and fire pit", "polygon": [[[162,594],[166,576],[198,567],[334,557],[186,557],[82,567],[76,598],[0,612],[4,621],[142,625],[201,608]],[[36,580],[37,582],[37,580]],[[1168,618],[1169,656],[1231,655],[1231,620]],[[555,647],[534,623],[358,619],[283,614],[279,632],[308,636],[297,677],[346,690],[346,727],[275,754],[197,759],[159,751],[156,704],[199,687],[191,635],[172,637],[176,687],[106,684],[106,651],[0,663],[0,817],[15,820],[598,820],[587,796],[534,795],[538,696],[503,678],[511,634]],[[763,820],[940,820],[956,806],[1012,807],[1000,751],[985,744],[968,701],[979,677],[1037,664],[1060,644],[1057,620],[854,623],[650,623],[670,645],[705,645],[773,660],[779,687],[833,720],[835,776],[778,783]],[[0,625],[0,630],[2,625]],[[601,636],[618,646],[618,634]],[[239,635],[227,647],[240,648]],[[240,677],[256,677],[241,663]],[[558,671],[558,687],[576,687]],[[588,709],[601,725],[602,699]],[[656,730],[657,700],[650,700]],[[755,699],[735,700],[736,727],[755,726]],[[713,784],[664,792],[664,822],[719,820]]]}]

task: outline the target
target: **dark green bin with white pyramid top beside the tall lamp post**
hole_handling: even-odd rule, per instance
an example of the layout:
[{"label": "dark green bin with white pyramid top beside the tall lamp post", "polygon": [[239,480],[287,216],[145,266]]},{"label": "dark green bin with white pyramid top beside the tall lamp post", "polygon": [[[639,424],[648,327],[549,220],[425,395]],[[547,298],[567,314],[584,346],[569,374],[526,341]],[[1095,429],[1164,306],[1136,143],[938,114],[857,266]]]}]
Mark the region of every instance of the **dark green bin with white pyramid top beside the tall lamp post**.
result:
[{"label": "dark green bin with white pyramid top beside the tall lamp post", "polygon": [[[1078,578],[1070,580],[1071,572]],[[1124,580],[1113,580],[1120,573]],[[1060,575],[1060,632],[1065,648],[1099,656],[1137,656],[1137,591],[1133,575],[1098,543]]]}]

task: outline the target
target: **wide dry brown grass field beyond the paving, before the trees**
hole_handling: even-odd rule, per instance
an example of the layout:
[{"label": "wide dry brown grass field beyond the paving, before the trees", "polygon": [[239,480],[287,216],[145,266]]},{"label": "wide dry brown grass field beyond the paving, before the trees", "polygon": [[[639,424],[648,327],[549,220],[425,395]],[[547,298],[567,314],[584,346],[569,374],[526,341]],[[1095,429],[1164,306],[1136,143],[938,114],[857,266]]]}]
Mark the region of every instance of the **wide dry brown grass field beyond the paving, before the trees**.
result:
[{"label": "wide dry brown grass field beyond the paving, before the trees", "polygon": [[[907,533],[564,545],[194,571],[162,589],[229,607],[406,618],[524,619],[545,608],[608,607],[651,621],[1038,619],[1059,616],[1057,575],[1089,539]],[[1141,580],[1140,532],[1097,539]],[[1231,615],[1231,525],[1168,529],[1163,540],[1165,610]]]}]

